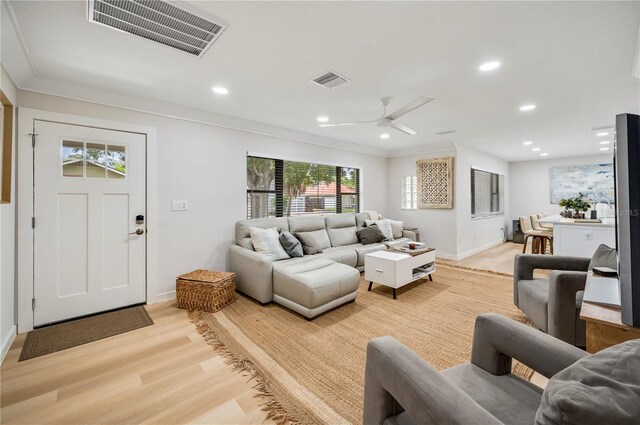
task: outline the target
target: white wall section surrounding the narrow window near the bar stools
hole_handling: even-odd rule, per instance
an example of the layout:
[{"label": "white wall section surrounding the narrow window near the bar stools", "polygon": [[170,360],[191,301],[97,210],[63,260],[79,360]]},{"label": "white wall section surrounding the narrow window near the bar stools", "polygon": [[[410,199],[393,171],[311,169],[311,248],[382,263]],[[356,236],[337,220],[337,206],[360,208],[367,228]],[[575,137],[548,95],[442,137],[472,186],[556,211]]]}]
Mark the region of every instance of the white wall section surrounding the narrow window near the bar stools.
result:
[{"label": "white wall section surrounding the narrow window near the bar stools", "polygon": [[[490,218],[471,218],[472,167],[504,175],[504,215]],[[455,169],[458,181],[455,195],[458,222],[457,255],[458,258],[464,258],[500,244],[504,240],[504,232],[505,229],[508,229],[509,223],[509,163],[474,149],[458,146]]]}]

